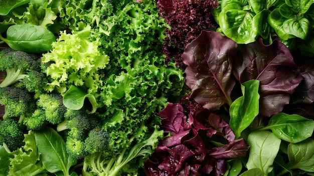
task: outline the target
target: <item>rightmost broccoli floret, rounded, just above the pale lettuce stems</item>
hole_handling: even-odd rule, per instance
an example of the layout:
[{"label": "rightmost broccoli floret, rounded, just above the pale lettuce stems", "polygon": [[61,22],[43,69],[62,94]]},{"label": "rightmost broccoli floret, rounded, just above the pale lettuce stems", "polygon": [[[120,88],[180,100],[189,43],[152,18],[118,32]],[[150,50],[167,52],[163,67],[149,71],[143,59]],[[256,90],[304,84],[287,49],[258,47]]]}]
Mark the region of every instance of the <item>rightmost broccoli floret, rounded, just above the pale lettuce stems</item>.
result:
[{"label": "rightmost broccoli floret, rounded, just above the pale lettuce stems", "polygon": [[100,129],[94,128],[88,133],[88,137],[85,139],[85,150],[89,153],[110,151],[111,136],[108,132]]}]

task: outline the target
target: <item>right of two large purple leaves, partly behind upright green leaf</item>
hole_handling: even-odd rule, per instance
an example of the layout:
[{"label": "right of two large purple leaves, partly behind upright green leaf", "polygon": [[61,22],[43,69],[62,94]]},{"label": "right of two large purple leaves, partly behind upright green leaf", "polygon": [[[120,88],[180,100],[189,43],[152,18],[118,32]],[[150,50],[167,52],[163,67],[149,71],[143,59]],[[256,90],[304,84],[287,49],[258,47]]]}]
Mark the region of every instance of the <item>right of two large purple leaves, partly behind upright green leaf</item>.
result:
[{"label": "right of two large purple leaves, partly behind upright green leaf", "polygon": [[260,112],[271,116],[282,111],[302,80],[288,48],[279,41],[265,46],[260,38],[244,45],[233,60],[240,83],[260,81]]}]

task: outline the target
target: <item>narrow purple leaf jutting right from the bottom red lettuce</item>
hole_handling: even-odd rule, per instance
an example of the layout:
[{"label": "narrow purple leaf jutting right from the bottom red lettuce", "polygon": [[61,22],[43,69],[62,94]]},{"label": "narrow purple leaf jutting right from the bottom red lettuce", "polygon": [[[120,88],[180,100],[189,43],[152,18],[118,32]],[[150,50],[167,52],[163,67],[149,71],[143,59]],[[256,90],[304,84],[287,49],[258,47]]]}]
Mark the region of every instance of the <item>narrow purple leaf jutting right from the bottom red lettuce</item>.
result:
[{"label": "narrow purple leaf jutting right from the bottom red lettuce", "polygon": [[228,144],[212,148],[208,155],[217,158],[236,158],[245,156],[248,151],[248,144],[244,139],[236,139]]}]

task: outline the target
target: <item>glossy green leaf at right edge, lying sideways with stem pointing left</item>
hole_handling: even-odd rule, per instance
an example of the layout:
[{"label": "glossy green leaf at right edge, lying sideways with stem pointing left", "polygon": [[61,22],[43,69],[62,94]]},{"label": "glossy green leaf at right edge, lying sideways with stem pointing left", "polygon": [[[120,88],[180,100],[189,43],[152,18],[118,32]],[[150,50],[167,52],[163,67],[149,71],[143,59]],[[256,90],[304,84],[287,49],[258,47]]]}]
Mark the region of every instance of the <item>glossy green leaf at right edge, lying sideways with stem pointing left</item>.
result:
[{"label": "glossy green leaf at right edge, lying sideways with stem pointing left", "polygon": [[296,114],[278,113],[270,118],[263,129],[271,129],[276,137],[296,143],[312,135],[314,121]]}]

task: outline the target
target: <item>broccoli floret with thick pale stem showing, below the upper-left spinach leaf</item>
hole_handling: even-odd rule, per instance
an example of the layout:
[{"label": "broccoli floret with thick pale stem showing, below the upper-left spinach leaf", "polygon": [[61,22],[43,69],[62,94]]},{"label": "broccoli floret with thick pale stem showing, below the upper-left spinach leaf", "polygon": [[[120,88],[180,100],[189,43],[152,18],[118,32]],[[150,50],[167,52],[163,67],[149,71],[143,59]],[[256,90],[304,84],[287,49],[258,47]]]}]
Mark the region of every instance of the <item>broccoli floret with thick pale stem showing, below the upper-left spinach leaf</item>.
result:
[{"label": "broccoli floret with thick pale stem showing, below the upper-left spinach leaf", "polygon": [[6,71],[6,77],[0,87],[8,87],[22,81],[31,70],[40,71],[41,62],[35,54],[13,51],[0,56],[0,71]]}]

